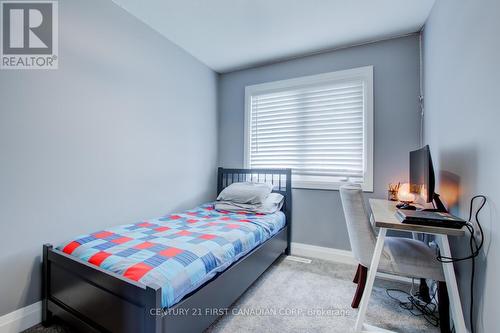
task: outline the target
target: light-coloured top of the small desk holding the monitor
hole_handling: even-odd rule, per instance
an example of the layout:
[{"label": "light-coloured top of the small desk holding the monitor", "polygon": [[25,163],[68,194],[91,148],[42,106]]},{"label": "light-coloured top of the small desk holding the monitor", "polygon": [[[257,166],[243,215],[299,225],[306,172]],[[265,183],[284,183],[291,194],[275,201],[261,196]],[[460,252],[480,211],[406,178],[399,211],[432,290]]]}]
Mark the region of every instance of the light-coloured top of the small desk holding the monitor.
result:
[{"label": "light-coloured top of the small desk holding the monitor", "polygon": [[401,223],[396,218],[395,201],[383,199],[370,199],[370,207],[372,209],[375,226],[379,228],[404,230],[410,232],[423,232],[426,234],[441,234],[450,236],[464,236],[465,227],[462,229],[442,228],[425,225]]}]

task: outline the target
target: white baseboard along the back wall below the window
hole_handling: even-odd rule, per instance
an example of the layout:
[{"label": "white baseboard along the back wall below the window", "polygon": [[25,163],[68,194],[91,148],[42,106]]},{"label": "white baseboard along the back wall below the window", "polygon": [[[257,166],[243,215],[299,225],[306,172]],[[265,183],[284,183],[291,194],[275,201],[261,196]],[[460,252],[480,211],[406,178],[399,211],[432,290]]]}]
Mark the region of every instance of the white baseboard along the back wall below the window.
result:
[{"label": "white baseboard along the back wall below the window", "polygon": [[[322,247],[322,246],[295,243],[295,242],[292,242],[291,250],[292,250],[291,251],[292,255],[294,256],[316,258],[316,259],[328,260],[348,265],[358,264],[352,252],[347,250],[340,250],[330,247]],[[384,280],[400,281],[406,283],[412,282],[412,279],[404,276],[392,275],[381,272],[377,272],[377,277]]]}]

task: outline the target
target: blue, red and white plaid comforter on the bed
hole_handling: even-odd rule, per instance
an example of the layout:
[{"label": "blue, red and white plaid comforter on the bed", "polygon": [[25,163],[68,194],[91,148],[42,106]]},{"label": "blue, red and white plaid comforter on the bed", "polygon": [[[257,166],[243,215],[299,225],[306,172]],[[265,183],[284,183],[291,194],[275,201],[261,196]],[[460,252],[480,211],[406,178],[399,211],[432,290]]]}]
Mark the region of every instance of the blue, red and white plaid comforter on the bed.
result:
[{"label": "blue, red and white plaid comforter on the bed", "polygon": [[170,307],[285,225],[282,212],[229,213],[213,207],[204,204],[108,228],[58,249],[128,279],[161,286],[162,305]]}]

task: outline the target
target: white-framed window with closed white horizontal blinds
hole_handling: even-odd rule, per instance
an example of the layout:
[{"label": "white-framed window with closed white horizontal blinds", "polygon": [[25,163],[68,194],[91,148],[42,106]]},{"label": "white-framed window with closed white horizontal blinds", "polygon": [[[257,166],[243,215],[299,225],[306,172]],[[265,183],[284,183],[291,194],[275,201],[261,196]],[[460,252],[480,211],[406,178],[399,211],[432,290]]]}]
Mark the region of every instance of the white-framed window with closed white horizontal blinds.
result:
[{"label": "white-framed window with closed white horizontal blinds", "polygon": [[292,168],[295,188],[373,191],[373,68],[246,87],[245,165]]}]

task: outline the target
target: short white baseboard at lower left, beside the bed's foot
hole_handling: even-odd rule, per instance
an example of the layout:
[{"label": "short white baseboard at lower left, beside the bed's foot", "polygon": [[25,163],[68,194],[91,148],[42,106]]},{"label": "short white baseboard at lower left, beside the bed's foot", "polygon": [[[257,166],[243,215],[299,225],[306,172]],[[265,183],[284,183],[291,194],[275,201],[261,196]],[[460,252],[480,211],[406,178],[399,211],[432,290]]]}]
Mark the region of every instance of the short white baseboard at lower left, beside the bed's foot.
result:
[{"label": "short white baseboard at lower left, beside the bed's foot", "polygon": [[12,311],[0,317],[0,333],[19,333],[42,321],[42,302]]}]

